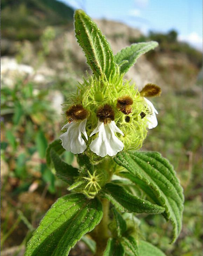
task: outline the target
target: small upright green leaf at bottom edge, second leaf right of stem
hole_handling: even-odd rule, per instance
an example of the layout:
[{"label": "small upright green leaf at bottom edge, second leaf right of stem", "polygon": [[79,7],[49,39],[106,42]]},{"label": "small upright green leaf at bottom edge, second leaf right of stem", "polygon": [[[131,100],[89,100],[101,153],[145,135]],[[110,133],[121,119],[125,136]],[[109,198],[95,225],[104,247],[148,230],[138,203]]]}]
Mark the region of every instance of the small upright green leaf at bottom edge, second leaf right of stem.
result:
[{"label": "small upright green leaf at bottom edge, second leaf right of stem", "polygon": [[121,243],[127,255],[140,256],[138,254],[137,242],[135,241],[134,237],[132,236],[122,237]]}]

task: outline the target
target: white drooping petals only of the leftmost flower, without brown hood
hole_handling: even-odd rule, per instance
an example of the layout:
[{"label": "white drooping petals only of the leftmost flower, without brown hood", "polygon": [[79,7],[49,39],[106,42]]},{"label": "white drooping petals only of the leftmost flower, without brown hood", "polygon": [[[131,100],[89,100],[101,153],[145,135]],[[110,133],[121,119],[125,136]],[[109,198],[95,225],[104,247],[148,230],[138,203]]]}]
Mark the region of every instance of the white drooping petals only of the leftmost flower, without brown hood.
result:
[{"label": "white drooping petals only of the leftmost flower, without brown hood", "polygon": [[63,148],[65,148],[67,151],[71,151],[73,154],[80,154],[86,150],[86,143],[82,139],[83,133],[88,140],[85,129],[86,123],[87,118],[82,121],[67,123],[65,126],[63,126],[61,130],[67,128],[67,132],[63,133],[59,137],[62,140]]}]

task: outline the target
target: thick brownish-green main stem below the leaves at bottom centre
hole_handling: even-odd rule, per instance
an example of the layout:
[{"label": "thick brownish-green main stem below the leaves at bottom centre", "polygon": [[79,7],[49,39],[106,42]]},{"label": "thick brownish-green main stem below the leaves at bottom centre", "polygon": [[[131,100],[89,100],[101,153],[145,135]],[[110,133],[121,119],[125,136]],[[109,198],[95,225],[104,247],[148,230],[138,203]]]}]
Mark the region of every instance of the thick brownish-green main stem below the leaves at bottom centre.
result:
[{"label": "thick brownish-green main stem below the leaves at bottom centre", "polygon": [[109,201],[102,198],[101,202],[103,206],[103,218],[91,234],[96,242],[96,256],[103,255],[103,252],[106,249],[107,240],[109,238]]}]

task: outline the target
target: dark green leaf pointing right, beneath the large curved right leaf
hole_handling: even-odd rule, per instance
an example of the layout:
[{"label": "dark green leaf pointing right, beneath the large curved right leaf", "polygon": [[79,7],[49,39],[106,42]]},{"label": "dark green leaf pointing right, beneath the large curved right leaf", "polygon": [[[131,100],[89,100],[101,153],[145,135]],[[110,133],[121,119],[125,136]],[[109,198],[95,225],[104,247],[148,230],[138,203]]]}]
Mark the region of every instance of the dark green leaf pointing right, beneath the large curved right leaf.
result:
[{"label": "dark green leaf pointing right, beneath the large curved right leaf", "polygon": [[128,193],[124,188],[113,183],[107,183],[102,188],[101,195],[122,212],[157,214],[165,210],[157,204]]}]

